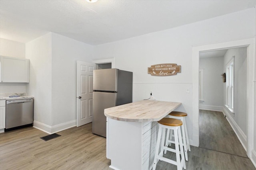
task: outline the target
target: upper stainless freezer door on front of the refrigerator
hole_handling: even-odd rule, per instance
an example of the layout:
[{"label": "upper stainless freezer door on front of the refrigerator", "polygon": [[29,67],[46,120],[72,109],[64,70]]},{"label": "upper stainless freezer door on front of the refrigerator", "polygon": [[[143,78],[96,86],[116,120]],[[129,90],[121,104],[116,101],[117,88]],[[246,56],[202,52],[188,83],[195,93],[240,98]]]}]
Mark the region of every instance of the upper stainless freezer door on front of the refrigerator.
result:
[{"label": "upper stainless freezer door on front of the refrigerator", "polygon": [[117,91],[116,68],[93,70],[93,90]]}]

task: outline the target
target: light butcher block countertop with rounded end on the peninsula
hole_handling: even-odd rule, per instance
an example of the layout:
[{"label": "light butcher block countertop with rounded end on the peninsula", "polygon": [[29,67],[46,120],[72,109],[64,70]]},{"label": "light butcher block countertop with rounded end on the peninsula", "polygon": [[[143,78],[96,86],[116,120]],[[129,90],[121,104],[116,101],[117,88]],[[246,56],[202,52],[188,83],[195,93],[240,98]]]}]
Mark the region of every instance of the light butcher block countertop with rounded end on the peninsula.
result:
[{"label": "light butcher block countertop with rounded end on the peninsula", "polygon": [[159,121],[180,105],[179,102],[142,100],[104,109],[104,114],[110,119],[119,121]]}]

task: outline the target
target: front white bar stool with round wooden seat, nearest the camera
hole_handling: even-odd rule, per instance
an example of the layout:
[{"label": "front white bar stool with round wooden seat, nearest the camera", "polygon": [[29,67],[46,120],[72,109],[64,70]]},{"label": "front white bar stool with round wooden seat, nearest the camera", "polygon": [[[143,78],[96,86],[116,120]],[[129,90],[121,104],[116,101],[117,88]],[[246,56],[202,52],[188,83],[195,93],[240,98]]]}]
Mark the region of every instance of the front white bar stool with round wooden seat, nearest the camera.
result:
[{"label": "front white bar stool with round wooden seat, nearest the camera", "polygon": [[[163,160],[170,164],[176,165],[177,170],[182,170],[182,167],[184,169],[186,169],[183,147],[179,147],[179,143],[180,143],[180,146],[182,146],[182,137],[181,137],[181,132],[180,132],[180,126],[182,125],[182,121],[180,121],[178,119],[164,117],[163,119],[158,121],[158,123],[159,123],[159,130],[158,130],[158,137],[157,137],[157,142],[156,142],[156,154],[155,154],[155,158],[154,158],[153,170],[156,169],[156,164],[157,164],[158,160]],[[168,129],[168,130],[172,129],[174,131],[175,149],[171,149],[171,148],[164,146],[164,138],[165,138],[166,129]],[[161,141],[161,136],[162,136],[161,150],[160,150],[160,153],[158,154],[159,148],[160,148],[159,145],[160,145],[160,141]],[[180,148],[180,150],[179,150],[179,148]],[[176,161],[168,159],[168,158],[164,158],[163,157],[164,150],[168,150],[168,151],[176,153]],[[180,160],[180,154],[181,154],[181,160]]]}]

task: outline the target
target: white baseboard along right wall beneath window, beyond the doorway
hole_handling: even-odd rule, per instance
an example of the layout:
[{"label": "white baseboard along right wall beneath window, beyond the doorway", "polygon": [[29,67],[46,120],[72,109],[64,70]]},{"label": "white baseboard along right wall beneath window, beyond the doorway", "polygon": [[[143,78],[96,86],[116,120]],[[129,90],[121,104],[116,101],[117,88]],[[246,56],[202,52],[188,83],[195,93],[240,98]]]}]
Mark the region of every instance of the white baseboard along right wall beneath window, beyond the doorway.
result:
[{"label": "white baseboard along right wall beneath window, beyond the doorway", "polygon": [[246,135],[244,134],[242,129],[238,126],[238,124],[235,122],[233,117],[230,115],[230,113],[228,113],[228,111],[225,108],[223,108],[223,114],[226,115],[226,119],[228,120],[228,123],[230,124],[230,126],[232,127],[234,132],[236,133],[236,136],[238,137],[238,139],[241,142],[244,149],[247,151]]}]

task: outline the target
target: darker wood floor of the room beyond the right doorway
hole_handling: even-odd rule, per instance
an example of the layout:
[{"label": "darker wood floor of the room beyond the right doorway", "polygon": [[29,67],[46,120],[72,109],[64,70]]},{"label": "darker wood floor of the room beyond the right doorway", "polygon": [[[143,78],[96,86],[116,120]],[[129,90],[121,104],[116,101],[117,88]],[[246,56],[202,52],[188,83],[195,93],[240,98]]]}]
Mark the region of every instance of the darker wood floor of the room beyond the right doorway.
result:
[{"label": "darker wood floor of the room beyond the right doorway", "polygon": [[222,112],[200,110],[199,127],[200,148],[247,158],[244,147]]}]

